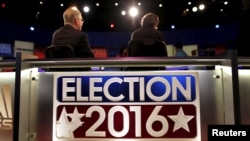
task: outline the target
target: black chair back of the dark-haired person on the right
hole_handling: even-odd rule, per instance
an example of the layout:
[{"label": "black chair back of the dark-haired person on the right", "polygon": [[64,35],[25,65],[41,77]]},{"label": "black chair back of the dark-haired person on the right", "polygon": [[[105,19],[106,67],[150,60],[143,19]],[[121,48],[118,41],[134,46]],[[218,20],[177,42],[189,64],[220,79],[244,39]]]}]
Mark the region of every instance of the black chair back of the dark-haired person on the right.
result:
[{"label": "black chair back of the dark-haired person on the right", "polygon": [[[128,57],[167,57],[167,47],[161,40],[131,40]],[[129,67],[127,70],[165,70],[165,67]]]}]

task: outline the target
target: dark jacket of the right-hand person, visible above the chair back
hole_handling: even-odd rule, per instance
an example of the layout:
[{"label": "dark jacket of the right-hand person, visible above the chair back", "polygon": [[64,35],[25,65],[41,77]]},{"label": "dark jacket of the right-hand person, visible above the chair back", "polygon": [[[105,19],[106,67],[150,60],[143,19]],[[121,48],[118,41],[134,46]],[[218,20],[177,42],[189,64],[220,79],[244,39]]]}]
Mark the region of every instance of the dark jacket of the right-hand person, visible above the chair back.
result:
[{"label": "dark jacket of the right-hand person, visible above the chair back", "polygon": [[152,27],[141,27],[135,30],[131,35],[131,40],[155,39],[165,42],[162,32]]}]

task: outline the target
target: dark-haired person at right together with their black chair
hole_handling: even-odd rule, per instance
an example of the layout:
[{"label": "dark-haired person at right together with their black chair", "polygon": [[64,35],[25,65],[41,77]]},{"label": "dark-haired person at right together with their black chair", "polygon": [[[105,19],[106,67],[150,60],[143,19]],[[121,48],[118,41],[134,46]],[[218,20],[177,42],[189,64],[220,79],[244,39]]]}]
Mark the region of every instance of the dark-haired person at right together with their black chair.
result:
[{"label": "dark-haired person at right together with their black chair", "polygon": [[[131,34],[128,56],[152,57],[167,56],[163,33],[158,30],[159,17],[155,13],[146,13],[141,18],[141,27]],[[129,70],[164,70],[165,67],[129,67]]]}]

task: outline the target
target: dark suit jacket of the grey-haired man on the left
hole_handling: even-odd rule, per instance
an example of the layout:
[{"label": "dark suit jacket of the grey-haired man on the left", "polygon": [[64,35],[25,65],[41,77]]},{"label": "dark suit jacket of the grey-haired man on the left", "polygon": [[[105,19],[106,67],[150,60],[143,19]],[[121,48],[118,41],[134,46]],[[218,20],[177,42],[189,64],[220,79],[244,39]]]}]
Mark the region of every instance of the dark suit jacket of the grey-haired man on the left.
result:
[{"label": "dark suit jacket of the grey-haired man on the left", "polygon": [[52,36],[52,45],[71,45],[75,56],[79,58],[93,58],[88,36],[86,33],[74,29],[71,25],[64,25],[57,29]]}]

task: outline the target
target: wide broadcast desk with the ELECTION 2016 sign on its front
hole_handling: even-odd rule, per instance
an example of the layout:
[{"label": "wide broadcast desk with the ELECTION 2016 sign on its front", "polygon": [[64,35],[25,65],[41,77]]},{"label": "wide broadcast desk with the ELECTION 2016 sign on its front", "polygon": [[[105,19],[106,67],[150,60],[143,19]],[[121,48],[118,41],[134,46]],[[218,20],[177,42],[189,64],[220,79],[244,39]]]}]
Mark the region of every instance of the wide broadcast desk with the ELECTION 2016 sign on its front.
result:
[{"label": "wide broadcast desk with the ELECTION 2016 sign on its front", "polygon": [[[237,57],[237,52],[234,50],[229,51],[227,56],[215,57],[133,57],[87,60],[81,58],[22,60],[22,55],[17,54],[16,60],[0,62],[0,67],[13,67],[15,70],[0,73],[0,103],[2,102],[0,105],[2,115],[0,140],[181,139],[207,141],[208,125],[250,124],[250,113],[245,112],[250,111],[248,65],[250,65],[250,58]],[[215,66],[215,69],[40,71],[47,67],[75,66],[118,68]],[[140,95],[133,97],[132,94]],[[171,110],[168,111],[168,109]],[[58,113],[55,113],[56,110]],[[70,116],[74,113],[78,115],[78,120],[76,120],[79,122],[78,126],[69,127],[73,122]],[[99,113],[100,117],[97,116],[98,114],[91,115],[94,113]],[[67,121],[64,122],[68,122],[68,130],[74,128],[74,132],[62,131],[64,126],[57,128],[62,125],[58,122],[63,122],[60,120],[60,115],[66,115],[67,118],[64,119]],[[186,121],[187,126],[174,127],[173,119],[176,115],[190,118],[190,121]],[[101,121],[102,116],[107,119]],[[140,118],[136,120],[134,117],[138,116]],[[195,119],[192,116],[195,116]],[[93,117],[96,118],[93,119]],[[157,117],[158,122],[153,121]],[[129,122],[126,119],[130,119]],[[92,122],[96,128],[85,120]],[[97,122],[98,120],[100,121]],[[115,124],[117,122],[122,126]],[[126,125],[127,123],[129,124]],[[88,130],[84,127],[92,128]],[[129,132],[130,130],[133,132]],[[173,133],[169,133],[170,131]],[[183,136],[175,133],[182,133]]]}]

